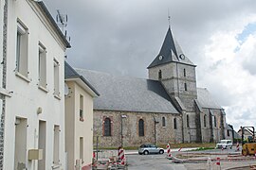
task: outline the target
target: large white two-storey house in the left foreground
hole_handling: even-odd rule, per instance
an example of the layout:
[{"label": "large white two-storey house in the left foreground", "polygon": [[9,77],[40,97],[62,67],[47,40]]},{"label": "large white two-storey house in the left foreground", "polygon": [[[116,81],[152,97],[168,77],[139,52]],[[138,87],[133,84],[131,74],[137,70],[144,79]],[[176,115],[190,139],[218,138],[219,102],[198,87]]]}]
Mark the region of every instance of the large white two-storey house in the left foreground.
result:
[{"label": "large white two-storey house in the left foreground", "polygon": [[64,52],[70,44],[44,3],[8,3],[11,96],[5,107],[4,169],[65,169]]}]

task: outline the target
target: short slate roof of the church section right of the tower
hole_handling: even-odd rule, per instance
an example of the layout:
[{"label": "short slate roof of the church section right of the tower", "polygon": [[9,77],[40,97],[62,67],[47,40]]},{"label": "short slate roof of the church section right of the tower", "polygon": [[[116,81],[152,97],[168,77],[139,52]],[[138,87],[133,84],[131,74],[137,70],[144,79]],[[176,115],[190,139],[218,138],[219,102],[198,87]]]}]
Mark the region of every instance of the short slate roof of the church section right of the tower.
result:
[{"label": "short slate roof of the church section right of the tower", "polygon": [[197,101],[202,108],[222,110],[206,88],[197,88]]}]

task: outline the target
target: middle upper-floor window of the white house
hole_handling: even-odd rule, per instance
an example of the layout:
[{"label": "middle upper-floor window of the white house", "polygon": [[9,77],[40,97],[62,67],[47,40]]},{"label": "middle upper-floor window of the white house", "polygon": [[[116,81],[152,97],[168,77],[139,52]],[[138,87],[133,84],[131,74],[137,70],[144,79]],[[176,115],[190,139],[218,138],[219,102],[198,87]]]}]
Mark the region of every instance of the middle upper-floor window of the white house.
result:
[{"label": "middle upper-floor window of the white house", "polygon": [[38,81],[39,86],[46,88],[46,47],[40,42],[38,47]]}]

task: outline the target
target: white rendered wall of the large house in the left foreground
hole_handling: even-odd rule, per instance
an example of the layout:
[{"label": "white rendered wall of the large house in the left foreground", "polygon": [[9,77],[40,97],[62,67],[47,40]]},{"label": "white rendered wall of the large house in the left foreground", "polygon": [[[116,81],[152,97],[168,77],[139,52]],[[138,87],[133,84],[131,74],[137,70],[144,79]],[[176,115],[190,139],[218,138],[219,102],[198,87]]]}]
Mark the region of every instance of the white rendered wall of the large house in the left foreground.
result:
[{"label": "white rendered wall of the large house in the left foreground", "polygon": [[[12,96],[7,98],[4,169],[14,169],[14,145],[16,117],[27,120],[27,153],[38,148],[39,121],[46,121],[46,169],[53,165],[54,126],[60,126],[60,167],[64,168],[64,44],[58,38],[45,16],[30,0],[9,1],[8,22],[8,72],[7,89]],[[1,10],[2,11],[2,10]],[[17,19],[28,28],[28,79],[15,75]],[[46,46],[47,91],[38,88],[38,43]],[[60,63],[60,98],[54,96],[53,59]],[[42,108],[42,113],[37,110]],[[37,169],[38,161],[25,163],[27,169]]]}]

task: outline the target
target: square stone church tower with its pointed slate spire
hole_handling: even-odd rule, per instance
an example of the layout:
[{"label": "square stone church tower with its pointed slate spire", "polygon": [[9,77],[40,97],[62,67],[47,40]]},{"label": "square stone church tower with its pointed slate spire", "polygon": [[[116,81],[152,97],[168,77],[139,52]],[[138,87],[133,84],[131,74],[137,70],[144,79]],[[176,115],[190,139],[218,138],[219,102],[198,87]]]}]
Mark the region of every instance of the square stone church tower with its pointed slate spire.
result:
[{"label": "square stone church tower with its pointed slate spire", "polygon": [[169,26],[159,54],[148,66],[149,78],[161,81],[170,96],[178,97],[187,111],[194,111],[195,67],[175,41]]}]

